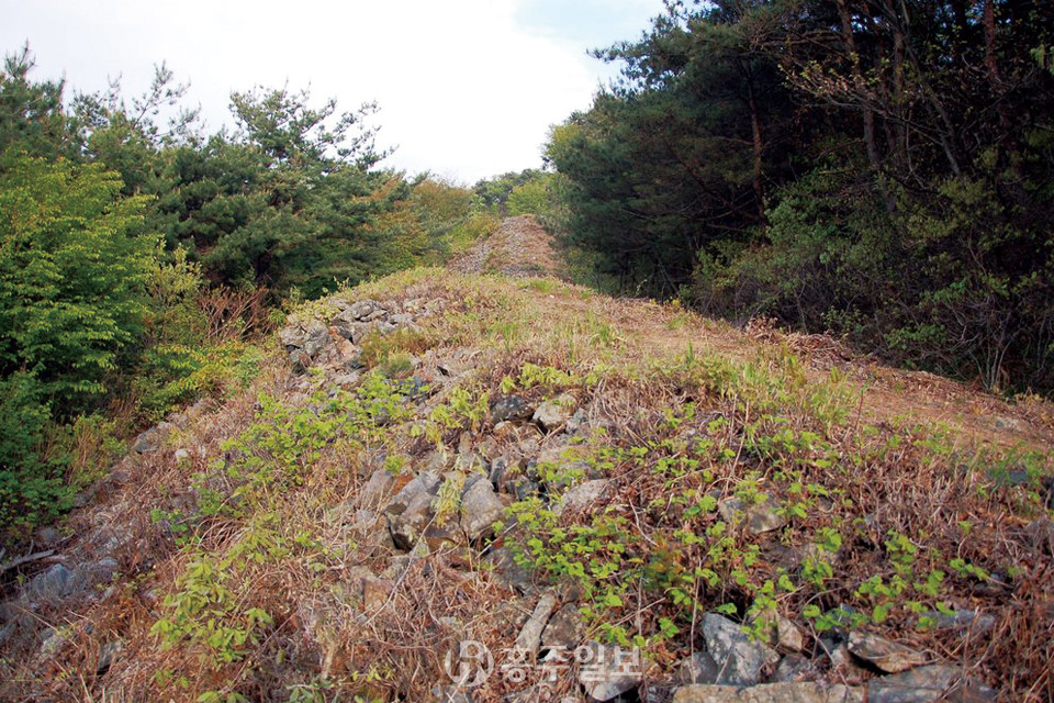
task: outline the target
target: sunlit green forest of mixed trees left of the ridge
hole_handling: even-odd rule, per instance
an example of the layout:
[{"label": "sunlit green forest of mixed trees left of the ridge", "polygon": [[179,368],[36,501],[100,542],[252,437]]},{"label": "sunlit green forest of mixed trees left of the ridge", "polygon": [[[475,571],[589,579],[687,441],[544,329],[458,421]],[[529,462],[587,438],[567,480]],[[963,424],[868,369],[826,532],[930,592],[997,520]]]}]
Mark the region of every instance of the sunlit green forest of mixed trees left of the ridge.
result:
[{"label": "sunlit green forest of mixed trees left of the ridge", "polygon": [[126,98],[0,71],[0,525],[16,534],[168,412],[254,373],[298,302],[436,265],[538,200],[380,166],[366,125],[306,91],[235,92],[206,134],[167,67]]}]

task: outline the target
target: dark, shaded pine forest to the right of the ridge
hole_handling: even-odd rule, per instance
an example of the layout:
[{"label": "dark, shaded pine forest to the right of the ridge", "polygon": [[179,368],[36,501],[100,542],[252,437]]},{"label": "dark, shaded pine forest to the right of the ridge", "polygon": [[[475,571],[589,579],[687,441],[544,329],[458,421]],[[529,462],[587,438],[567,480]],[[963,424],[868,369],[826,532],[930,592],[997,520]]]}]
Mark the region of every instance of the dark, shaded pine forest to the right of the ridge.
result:
[{"label": "dark, shaded pine forest to the right of the ridge", "polygon": [[613,289],[1054,387],[1054,5],[669,2],[552,131]]}]

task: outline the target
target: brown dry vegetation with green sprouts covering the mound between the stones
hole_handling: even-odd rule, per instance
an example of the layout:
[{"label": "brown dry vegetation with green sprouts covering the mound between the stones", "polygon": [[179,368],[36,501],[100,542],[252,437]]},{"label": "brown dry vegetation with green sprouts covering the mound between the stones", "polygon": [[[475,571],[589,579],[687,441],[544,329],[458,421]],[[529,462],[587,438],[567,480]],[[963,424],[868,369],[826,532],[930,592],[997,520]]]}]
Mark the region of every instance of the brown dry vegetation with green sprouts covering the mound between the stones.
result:
[{"label": "brown dry vegetation with green sprouts covering the mound between the stones", "polygon": [[[548,260],[537,252],[525,257]],[[372,357],[374,370],[384,370],[394,356],[412,354],[414,378],[431,390],[417,398],[392,391],[395,410],[383,421],[356,415],[370,373],[340,380],[319,360],[298,377],[276,347],[249,392],[187,413],[162,450],[126,458],[97,503],[70,517],[67,558],[87,559],[115,539],[120,573],[102,595],[33,614],[65,639],[46,655],[33,637],[9,647],[0,695],[428,700],[446,680],[450,646],[478,639],[507,649],[534,606],[530,594],[551,584],[563,602],[593,609],[594,636],[644,638],[652,662],[646,689],[661,688],[695,647],[702,613],[725,605],[745,617],[770,596],[810,647],[819,648],[825,632],[805,613],[846,604],[865,616],[856,627],[958,663],[1007,701],[1054,699],[1049,403],[1010,403],[855,358],[823,337],[764,325],[737,331],[551,278],[416,270],[339,295],[445,301],[442,314]],[[301,313],[332,314],[325,301]],[[459,392],[479,408],[504,393],[535,403],[570,393],[585,429],[572,437],[530,423],[495,427],[489,413],[469,411],[437,424],[436,409],[455,408]],[[314,428],[302,444],[274,443],[298,422]],[[334,428],[324,432],[326,423]],[[176,460],[180,448],[190,449],[189,459]],[[452,469],[463,455],[504,456],[525,470],[562,455],[553,470],[573,459],[614,488],[605,504],[561,517],[543,503],[505,496],[518,526],[508,520],[493,542],[470,547],[444,543],[393,555],[374,544],[375,527],[357,523],[373,470],[388,467],[405,482],[429,462]],[[694,507],[707,495],[749,502],[762,493],[804,514],[765,535],[732,521],[718,537],[719,514]],[[569,576],[554,560],[568,544],[560,528],[573,525],[583,542],[571,561],[612,565],[610,574]],[[815,545],[830,531],[841,546],[825,557],[831,576],[814,583],[804,565],[822,554]],[[541,546],[528,546],[529,537]],[[537,566],[519,590],[486,566],[500,547]],[[393,563],[380,594],[361,591],[363,573]],[[939,588],[922,592],[919,583],[935,571]],[[792,588],[766,591],[784,574]],[[889,596],[861,593],[876,577],[902,588]],[[618,604],[604,600],[610,593]],[[242,629],[245,640],[210,644],[188,629],[166,644],[156,624],[175,621],[179,604],[193,598],[204,607],[188,628],[212,618]],[[909,602],[980,611],[995,626],[919,627]],[[879,605],[888,605],[885,615],[873,616]],[[266,620],[253,621],[254,609]],[[665,621],[676,634],[662,635]],[[121,652],[100,674],[100,648],[114,641]],[[231,660],[221,661],[223,654]],[[818,674],[860,676],[826,665]],[[475,700],[502,700],[507,685],[494,680]],[[560,685],[578,690],[571,676]],[[291,699],[296,692],[318,698]]]}]

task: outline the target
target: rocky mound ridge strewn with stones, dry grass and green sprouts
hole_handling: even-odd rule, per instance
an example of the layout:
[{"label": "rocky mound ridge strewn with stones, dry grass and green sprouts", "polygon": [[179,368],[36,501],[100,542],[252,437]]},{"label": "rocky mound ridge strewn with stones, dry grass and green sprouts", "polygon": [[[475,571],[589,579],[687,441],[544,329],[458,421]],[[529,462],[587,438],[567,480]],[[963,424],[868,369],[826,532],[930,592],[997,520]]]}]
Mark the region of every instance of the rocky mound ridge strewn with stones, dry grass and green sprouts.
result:
[{"label": "rocky mound ridge strewn with stones, dry grass and green sprouts", "polygon": [[0,696],[1051,700],[1050,403],[560,272],[299,309],[4,565]]}]

